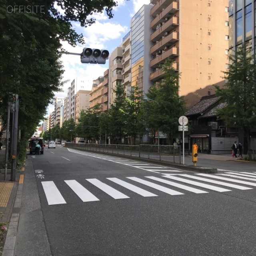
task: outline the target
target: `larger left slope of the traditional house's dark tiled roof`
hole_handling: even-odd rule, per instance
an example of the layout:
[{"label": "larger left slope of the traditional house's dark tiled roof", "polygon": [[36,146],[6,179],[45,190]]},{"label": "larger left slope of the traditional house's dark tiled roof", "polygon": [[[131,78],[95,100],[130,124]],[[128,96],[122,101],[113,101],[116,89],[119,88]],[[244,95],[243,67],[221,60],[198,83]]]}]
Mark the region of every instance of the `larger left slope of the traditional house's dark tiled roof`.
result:
[{"label": "larger left slope of the traditional house's dark tiled roof", "polygon": [[202,97],[200,102],[196,103],[188,111],[185,112],[185,116],[204,113],[205,110],[207,110],[210,106],[212,106],[214,103],[220,100],[220,98],[221,98],[220,96],[219,97],[216,97],[216,96]]}]

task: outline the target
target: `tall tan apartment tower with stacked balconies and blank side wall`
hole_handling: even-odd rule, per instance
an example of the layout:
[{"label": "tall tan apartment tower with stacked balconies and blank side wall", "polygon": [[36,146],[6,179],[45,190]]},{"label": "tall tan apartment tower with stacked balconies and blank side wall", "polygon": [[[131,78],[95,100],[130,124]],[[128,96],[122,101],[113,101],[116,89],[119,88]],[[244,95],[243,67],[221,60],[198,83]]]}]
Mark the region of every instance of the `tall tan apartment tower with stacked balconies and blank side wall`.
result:
[{"label": "tall tan apartment tower with stacked balconies and blank side wall", "polygon": [[[237,0],[242,2],[242,0]],[[247,1],[248,2],[248,1]],[[171,58],[181,73],[179,95],[192,106],[222,86],[228,64],[228,0],[151,0],[153,46],[150,80],[162,79],[159,64]]]}]

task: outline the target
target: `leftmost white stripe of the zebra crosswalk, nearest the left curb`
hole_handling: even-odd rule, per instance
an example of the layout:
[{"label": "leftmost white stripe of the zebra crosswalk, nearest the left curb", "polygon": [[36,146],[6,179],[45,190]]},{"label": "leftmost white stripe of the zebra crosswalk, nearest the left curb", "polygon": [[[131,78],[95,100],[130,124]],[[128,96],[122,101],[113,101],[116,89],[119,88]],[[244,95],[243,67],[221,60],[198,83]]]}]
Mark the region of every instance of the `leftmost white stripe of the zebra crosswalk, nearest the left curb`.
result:
[{"label": "leftmost white stripe of the zebra crosswalk, nearest the left curb", "polygon": [[41,183],[49,205],[66,204],[66,201],[60,194],[60,191],[58,190],[53,181],[42,181]]}]

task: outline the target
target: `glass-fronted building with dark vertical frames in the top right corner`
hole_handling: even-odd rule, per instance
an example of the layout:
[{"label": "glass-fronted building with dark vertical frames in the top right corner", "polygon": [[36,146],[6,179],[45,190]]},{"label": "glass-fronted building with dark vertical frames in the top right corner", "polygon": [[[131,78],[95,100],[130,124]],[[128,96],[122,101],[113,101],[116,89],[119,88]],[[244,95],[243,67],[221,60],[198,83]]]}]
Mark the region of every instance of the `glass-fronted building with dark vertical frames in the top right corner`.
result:
[{"label": "glass-fronted building with dark vertical frames in the top right corner", "polygon": [[229,0],[229,48],[236,48],[242,42],[254,48],[256,32],[256,0]]}]

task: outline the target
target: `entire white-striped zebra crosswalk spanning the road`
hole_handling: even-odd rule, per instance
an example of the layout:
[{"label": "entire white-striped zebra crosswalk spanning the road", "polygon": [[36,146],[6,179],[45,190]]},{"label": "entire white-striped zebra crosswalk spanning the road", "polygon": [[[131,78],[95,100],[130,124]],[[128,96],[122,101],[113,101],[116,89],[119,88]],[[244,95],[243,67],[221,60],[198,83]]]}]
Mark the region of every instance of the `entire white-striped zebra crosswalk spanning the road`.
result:
[{"label": "entire white-striped zebra crosswalk spanning the road", "polygon": [[[211,191],[230,192],[231,189],[252,190],[256,186],[256,173],[163,174],[162,176],[88,178],[81,182],[82,184],[76,180],[64,180],[64,184],[67,185],[64,189],[69,189],[68,193],[74,193],[82,202],[94,202],[102,200],[101,193],[115,200],[132,198],[133,193],[126,195],[125,191],[128,190],[142,197],[161,196],[161,192],[178,196],[188,193],[208,194]],[[67,204],[68,198],[64,198],[54,181],[42,181],[41,184],[48,205]],[[63,185],[61,186],[63,189]],[[97,195],[91,192],[91,186],[96,188],[94,193],[97,191]]]}]

